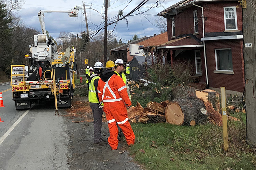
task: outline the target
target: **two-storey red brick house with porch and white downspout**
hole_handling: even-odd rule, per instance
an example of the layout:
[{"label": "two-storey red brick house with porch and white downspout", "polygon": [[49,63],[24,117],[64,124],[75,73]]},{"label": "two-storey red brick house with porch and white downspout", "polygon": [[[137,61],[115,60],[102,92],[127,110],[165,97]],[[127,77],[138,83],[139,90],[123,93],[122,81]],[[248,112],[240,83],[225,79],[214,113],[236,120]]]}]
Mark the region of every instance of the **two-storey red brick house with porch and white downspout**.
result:
[{"label": "two-storey red brick house with porch and white downspout", "polygon": [[210,88],[242,92],[242,7],[238,5],[234,0],[183,0],[168,7],[157,14],[167,19],[168,30],[168,42],[158,50],[171,64],[177,58],[189,59],[194,75]]}]

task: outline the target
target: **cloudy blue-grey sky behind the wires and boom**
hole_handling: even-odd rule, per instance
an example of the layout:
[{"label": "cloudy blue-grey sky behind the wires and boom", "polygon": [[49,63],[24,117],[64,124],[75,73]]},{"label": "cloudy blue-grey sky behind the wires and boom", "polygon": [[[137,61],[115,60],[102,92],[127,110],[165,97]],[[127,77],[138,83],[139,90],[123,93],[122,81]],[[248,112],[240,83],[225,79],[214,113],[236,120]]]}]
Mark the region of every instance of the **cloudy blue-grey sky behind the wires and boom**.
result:
[{"label": "cloudy blue-grey sky behind the wires and boom", "polygon": [[[156,6],[156,1],[149,0],[140,8],[140,12],[147,11],[152,6]],[[116,19],[119,10],[123,10],[124,15],[126,15],[140,2],[141,0],[111,0],[110,7],[108,8],[108,19],[110,20],[108,22]],[[112,24],[108,27],[108,30],[113,31],[114,29],[112,34],[116,36],[117,40],[121,38],[125,43],[127,43],[127,40],[132,39],[134,34],[137,34],[139,37],[159,34],[160,30],[156,27],[155,23],[155,20],[159,18],[157,13],[178,2],[178,0],[159,0],[158,2],[157,7],[151,8],[144,15],[129,16],[127,20],[118,21],[115,29],[115,25]],[[104,0],[87,0],[84,3],[86,8],[92,8],[86,9],[89,31],[97,31],[104,26],[104,20],[102,18],[104,16]],[[18,11],[17,15],[22,18],[28,27],[31,26],[41,30],[37,15],[39,10],[65,11],[71,10],[76,5],[81,6],[83,2],[79,0],[25,0],[23,9]],[[53,37],[59,37],[59,33],[63,31],[72,32],[73,34],[86,31],[83,13],[83,10],[79,10],[78,17],[73,18],[69,18],[67,13],[46,13],[44,18],[46,30]],[[138,10],[133,14],[137,13]]]}]

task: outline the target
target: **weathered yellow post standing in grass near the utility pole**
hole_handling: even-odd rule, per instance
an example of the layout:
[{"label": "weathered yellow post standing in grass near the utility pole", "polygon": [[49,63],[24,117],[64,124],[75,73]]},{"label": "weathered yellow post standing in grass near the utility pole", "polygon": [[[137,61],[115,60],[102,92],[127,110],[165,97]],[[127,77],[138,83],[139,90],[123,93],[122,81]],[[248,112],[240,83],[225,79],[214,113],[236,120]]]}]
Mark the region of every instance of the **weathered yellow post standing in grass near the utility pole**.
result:
[{"label": "weathered yellow post standing in grass near the utility pole", "polygon": [[226,89],[221,87],[221,106],[222,106],[222,126],[223,126],[223,140],[224,150],[228,150],[228,125],[227,125],[227,108],[226,108]]}]

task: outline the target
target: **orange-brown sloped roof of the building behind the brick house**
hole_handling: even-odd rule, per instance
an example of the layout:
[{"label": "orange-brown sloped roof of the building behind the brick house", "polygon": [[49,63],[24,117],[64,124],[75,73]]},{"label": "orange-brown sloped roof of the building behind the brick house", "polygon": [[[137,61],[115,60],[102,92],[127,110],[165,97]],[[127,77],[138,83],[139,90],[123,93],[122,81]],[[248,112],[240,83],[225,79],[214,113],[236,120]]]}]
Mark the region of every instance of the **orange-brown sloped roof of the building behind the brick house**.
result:
[{"label": "orange-brown sloped roof of the building behind the brick house", "polygon": [[147,38],[140,42],[140,45],[143,45],[144,47],[152,47],[152,46],[158,46],[163,43],[166,43],[168,41],[168,35],[167,32],[164,32],[162,34],[154,35],[151,38]]}]

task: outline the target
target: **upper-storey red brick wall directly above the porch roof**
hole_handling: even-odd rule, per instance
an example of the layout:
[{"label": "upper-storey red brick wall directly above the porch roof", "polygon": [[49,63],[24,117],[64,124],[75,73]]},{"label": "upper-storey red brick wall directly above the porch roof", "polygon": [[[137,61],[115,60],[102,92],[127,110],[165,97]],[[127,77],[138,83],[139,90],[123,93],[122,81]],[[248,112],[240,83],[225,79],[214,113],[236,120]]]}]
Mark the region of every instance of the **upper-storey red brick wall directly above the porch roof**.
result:
[{"label": "upper-storey red brick wall directly above the porch roof", "polygon": [[[198,38],[203,37],[203,24],[202,24],[202,10],[197,6],[192,6],[184,10],[183,12],[177,14],[174,17],[175,21],[175,36],[182,34],[194,34],[194,14],[193,11],[197,10],[198,18]],[[172,24],[171,18],[167,18],[167,31],[168,31],[168,41],[172,37]]]}]

